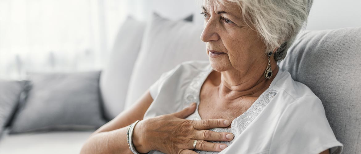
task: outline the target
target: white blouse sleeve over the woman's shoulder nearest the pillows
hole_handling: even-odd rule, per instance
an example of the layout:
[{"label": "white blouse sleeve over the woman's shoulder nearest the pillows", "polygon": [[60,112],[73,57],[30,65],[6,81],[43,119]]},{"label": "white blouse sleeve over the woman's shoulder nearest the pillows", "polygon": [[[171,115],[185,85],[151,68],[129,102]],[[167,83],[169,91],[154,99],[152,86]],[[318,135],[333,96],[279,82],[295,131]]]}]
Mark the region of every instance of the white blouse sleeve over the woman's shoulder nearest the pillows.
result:
[{"label": "white blouse sleeve over the woman's shoulder nearest the pillows", "polygon": [[[153,98],[144,118],[170,114],[182,109],[187,97],[188,89],[198,86],[194,80],[209,71],[208,61],[186,61],[164,72],[161,77],[151,85],[149,93]],[[192,85],[192,87],[191,87]],[[191,87],[191,88],[190,88]]]}]

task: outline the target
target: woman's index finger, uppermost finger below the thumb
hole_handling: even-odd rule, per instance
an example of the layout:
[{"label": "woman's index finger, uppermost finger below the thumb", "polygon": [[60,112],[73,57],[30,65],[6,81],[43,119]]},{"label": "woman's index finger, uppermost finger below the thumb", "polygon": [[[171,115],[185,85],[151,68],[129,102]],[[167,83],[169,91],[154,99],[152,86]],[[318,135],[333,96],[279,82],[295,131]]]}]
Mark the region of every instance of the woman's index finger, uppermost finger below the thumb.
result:
[{"label": "woman's index finger, uppermost finger below the thumb", "polygon": [[192,122],[193,127],[198,130],[228,127],[231,122],[227,119],[204,119]]}]

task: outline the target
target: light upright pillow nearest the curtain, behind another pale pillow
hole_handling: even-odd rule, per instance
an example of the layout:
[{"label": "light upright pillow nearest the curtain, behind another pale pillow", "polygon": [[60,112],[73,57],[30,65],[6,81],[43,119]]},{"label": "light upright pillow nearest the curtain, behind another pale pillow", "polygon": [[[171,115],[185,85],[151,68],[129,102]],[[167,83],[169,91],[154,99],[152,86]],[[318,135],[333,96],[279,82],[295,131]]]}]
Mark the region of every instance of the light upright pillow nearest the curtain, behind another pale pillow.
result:
[{"label": "light upright pillow nearest the curtain, behind another pale pillow", "polygon": [[100,76],[105,116],[113,119],[125,104],[134,62],[142,43],[145,23],[128,16],[120,27],[108,64]]}]

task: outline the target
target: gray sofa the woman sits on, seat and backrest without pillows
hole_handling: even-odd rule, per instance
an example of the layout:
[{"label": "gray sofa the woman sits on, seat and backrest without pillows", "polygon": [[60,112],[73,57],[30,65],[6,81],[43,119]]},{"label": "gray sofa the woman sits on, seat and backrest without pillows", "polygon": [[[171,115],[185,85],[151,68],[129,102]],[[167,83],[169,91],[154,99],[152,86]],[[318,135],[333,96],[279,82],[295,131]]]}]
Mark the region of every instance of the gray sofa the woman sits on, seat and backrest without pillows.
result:
[{"label": "gray sofa the woman sits on, seat and backrest without pillows", "polygon": [[[303,32],[279,66],[322,100],[343,154],[360,154],[361,27]],[[92,130],[8,132],[0,138],[0,154],[79,153]]]}]

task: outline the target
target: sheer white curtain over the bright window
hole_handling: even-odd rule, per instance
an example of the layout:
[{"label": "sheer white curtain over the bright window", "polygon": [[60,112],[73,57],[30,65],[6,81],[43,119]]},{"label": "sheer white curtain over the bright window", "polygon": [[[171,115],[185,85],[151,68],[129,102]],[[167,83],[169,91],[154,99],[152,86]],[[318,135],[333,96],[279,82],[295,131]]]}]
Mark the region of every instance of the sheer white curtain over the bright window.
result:
[{"label": "sheer white curtain over the bright window", "polygon": [[0,0],[0,78],[27,71],[100,70],[126,0]]}]

